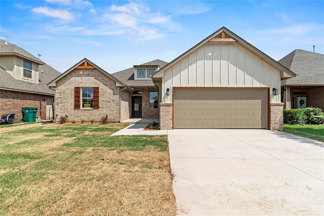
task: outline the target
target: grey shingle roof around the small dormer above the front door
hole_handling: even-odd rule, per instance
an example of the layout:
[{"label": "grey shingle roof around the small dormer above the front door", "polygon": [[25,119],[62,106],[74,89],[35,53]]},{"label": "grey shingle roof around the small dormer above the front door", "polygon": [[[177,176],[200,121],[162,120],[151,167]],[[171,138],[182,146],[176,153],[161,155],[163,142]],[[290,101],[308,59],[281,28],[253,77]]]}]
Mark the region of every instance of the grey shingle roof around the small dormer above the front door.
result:
[{"label": "grey shingle roof around the small dormer above the front door", "polygon": [[[146,62],[141,65],[158,65],[160,68],[163,68],[166,66],[168,62],[161,61],[159,59]],[[127,85],[130,85],[132,87],[140,87],[140,86],[153,86],[152,80],[134,80],[134,67],[128,68],[126,70],[122,70],[116,73],[111,74],[120,81],[124,82]]]}]

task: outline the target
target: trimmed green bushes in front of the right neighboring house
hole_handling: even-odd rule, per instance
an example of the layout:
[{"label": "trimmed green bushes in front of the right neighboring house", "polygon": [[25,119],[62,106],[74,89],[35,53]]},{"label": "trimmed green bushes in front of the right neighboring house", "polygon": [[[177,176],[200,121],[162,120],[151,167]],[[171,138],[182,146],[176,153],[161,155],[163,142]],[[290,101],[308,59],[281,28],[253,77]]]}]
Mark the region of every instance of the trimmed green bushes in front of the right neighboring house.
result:
[{"label": "trimmed green bushes in front of the right neighboring house", "polygon": [[284,123],[288,124],[322,124],[324,113],[320,108],[284,110]]}]

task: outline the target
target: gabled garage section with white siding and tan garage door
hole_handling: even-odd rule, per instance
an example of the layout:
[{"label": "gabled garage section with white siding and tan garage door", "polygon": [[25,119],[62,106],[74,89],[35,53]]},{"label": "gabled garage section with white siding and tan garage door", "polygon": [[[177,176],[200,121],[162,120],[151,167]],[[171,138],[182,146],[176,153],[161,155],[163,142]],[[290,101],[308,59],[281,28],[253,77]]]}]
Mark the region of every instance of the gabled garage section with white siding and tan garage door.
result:
[{"label": "gabled garage section with white siding and tan garage door", "polygon": [[280,80],[295,74],[225,27],[152,75],[160,128],[282,130]]}]

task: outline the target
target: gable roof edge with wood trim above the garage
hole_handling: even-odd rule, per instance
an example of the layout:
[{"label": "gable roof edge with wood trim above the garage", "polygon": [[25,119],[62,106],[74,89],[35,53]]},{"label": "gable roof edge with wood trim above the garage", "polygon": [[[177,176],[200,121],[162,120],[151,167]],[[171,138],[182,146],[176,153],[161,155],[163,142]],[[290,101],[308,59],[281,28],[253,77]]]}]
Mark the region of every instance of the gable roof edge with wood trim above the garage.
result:
[{"label": "gable roof edge with wood trim above the garage", "polygon": [[156,71],[152,79],[155,77],[158,77],[160,73],[162,73],[164,70],[167,70],[168,68],[172,67],[174,64],[176,64],[179,60],[181,60],[183,57],[189,55],[190,53],[194,52],[201,46],[204,46],[209,41],[227,41],[227,42],[238,42],[242,47],[246,48],[247,50],[254,53],[256,56],[258,56],[263,61],[267,62],[272,67],[278,69],[280,71],[280,77],[281,78],[290,78],[294,77],[296,74],[293,73],[291,70],[286,68],[285,66],[279,64],[277,61],[266,55],[265,53],[258,50],[256,47],[252,46],[247,42],[246,40],[240,38],[230,30],[228,30],[225,27],[220,28],[219,30],[215,31],[213,34],[206,37],[204,40],[201,40],[197,45],[180,55],[178,58],[174,59],[172,62],[170,62],[168,65],[166,65],[164,68],[159,69]]}]

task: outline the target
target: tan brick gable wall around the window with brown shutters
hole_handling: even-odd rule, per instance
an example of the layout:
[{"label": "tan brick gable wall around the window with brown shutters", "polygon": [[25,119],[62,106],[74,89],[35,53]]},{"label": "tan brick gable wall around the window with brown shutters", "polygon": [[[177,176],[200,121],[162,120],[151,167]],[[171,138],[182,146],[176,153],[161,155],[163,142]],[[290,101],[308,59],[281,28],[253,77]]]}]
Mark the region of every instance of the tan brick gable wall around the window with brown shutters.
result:
[{"label": "tan brick gable wall around the window with brown shutters", "polygon": [[[74,87],[99,87],[99,109],[74,109]],[[55,91],[55,115],[68,115],[67,121],[119,121],[119,87],[116,82],[96,69],[75,69],[59,80]]]}]

